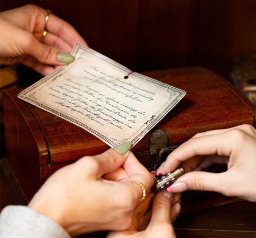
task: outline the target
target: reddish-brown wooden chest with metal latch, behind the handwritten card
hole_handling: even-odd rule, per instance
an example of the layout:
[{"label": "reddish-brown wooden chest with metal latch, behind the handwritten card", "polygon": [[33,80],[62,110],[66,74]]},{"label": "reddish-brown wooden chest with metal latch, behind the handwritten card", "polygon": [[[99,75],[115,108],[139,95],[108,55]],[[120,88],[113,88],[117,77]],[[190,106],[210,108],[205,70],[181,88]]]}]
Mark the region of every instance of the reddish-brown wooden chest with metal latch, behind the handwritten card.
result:
[{"label": "reddish-brown wooden chest with metal latch, behind the handwritten card", "polygon": [[[255,107],[225,79],[198,67],[143,73],[187,92],[181,102],[132,151],[148,169],[162,147],[177,147],[198,132],[240,124],[255,127]],[[109,147],[80,127],[17,98],[24,88],[3,93],[6,158],[29,200],[56,170]],[[153,138],[151,134],[157,131]],[[150,140],[151,139],[151,140]],[[163,162],[164,158],[162,158]],[[159,163],[159,161],[158,161]]]}]

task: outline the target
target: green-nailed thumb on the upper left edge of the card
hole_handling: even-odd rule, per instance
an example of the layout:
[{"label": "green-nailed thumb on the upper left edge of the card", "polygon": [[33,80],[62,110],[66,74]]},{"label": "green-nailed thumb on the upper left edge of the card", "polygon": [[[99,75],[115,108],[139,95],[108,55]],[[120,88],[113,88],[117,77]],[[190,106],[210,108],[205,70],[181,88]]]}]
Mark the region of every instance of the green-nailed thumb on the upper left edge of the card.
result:
[{"label": "green-nailed thumb on the upper left edge of the card", "polygon": [[63,63],[71,63],[74,60],[74,56],[71,54],[60,52],[59,49],[51,45],[43,44],[34,36],[30,38],[30,44],[25,53],[30,54],[46,65],[63,65]]}]

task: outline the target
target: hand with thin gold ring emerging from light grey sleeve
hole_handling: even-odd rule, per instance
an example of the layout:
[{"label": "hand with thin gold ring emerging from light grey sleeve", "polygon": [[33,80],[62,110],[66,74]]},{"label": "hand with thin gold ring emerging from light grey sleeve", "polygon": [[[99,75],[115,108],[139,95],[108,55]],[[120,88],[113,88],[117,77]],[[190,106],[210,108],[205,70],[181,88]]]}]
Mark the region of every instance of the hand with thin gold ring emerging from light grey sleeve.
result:
[{"label": "hand with thin gold ring emerging from light grey sleeve", "polygon": [[147,191],[154,181],[154,176],[128,151],[130,148],[131,143],[125,142],[59,169],[28,206],[52,218],[70,235],[125,230],[142,197],[141,187],[130,180],[142,182]]}]

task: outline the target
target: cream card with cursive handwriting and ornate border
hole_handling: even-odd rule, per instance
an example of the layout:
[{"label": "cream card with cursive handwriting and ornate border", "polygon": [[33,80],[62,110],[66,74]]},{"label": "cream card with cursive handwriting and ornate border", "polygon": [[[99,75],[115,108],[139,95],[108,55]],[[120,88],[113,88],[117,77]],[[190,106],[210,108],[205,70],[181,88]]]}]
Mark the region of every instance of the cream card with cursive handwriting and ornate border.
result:
[{"label": "cream card with cursive handwriting and ornate border", "polygon": [[76,44],[72,55],[74,62],[18,97],[82,127],[111,147],[125,141],[138,143],[186,95],[84,45]]}]

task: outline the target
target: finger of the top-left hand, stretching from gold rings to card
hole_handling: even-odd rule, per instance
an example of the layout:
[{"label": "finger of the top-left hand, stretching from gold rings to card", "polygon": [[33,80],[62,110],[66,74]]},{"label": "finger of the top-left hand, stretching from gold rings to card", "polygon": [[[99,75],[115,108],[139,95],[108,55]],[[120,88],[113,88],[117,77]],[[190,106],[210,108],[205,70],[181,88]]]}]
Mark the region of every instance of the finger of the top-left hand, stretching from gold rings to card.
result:
[{"label": "finger of the top-left hand, stretching from gold rings to card", "polygon": [[74,47],[76,43],[81,43],[88,46],[86,41],[75,30],[75,28],[73,28],[73,26],[52,13],[49,15],[45,29],[53,34],[58,35],[61,39],[70,44],[71,47]]}]

